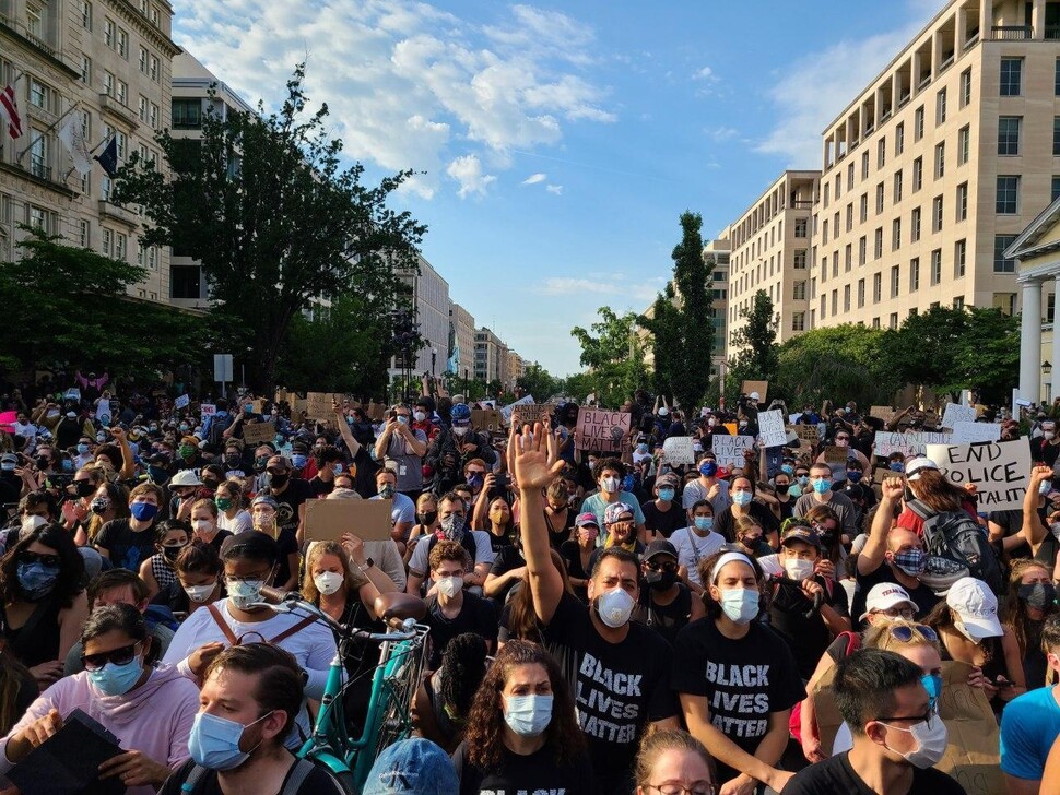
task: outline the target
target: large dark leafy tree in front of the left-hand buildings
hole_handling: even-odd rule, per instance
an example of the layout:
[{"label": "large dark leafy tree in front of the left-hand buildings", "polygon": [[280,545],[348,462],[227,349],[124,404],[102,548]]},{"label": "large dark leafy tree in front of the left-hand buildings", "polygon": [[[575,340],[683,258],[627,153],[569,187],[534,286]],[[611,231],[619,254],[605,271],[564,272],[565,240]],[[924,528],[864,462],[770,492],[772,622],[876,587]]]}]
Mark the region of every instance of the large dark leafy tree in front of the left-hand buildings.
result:
[{"label": "large dark leafy tree in front of the left-hand buildings", "polygon": [[[274,383],[292,323],[314,301],[357,295],[373,323],[400,308],[396,276],[417,272],[426,230],[387,206],[410,171],[368,187],[361,164],[342,168],[328,107],[307,107],[304,76],[299,64],[276,114],[263,104],[258,114],[207,112],[201,140],[158,133],[165,167],[133,155],[114,193],[142,207],[142,242],[202,263],[214,311],[249,330],[257,389]],[[211,109],[220,106],[211,91]]]}]

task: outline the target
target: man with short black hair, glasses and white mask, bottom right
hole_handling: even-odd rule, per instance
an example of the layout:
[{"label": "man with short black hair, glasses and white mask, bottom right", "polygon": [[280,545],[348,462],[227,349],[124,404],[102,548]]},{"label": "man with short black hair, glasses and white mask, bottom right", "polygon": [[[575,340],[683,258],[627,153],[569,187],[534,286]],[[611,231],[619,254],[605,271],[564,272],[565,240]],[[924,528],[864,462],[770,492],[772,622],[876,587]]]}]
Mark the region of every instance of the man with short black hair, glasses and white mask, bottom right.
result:
[{"label": "man with short black hair, glasses and white mask, bottom right", "polygon": [[964,795],[964,787],[933,769],[947,734],[922,677],[919,665],[880,649],[839,661],[832,690],[853,748],[797,773],[785,795]]}]

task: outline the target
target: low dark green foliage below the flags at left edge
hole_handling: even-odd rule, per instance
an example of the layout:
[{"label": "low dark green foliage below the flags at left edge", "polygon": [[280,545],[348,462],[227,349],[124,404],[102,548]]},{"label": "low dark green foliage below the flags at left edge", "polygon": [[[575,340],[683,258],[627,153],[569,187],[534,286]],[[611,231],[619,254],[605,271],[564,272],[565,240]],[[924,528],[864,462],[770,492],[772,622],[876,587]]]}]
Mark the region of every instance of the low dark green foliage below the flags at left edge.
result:
[{"label": "low dark green foliage below the flags at left edge", "polygon": [[212,349],[208,318],[131,298],[148,272],[38,229],[0,263],[0,367],[71,366],[139,376],[195,363]]}]

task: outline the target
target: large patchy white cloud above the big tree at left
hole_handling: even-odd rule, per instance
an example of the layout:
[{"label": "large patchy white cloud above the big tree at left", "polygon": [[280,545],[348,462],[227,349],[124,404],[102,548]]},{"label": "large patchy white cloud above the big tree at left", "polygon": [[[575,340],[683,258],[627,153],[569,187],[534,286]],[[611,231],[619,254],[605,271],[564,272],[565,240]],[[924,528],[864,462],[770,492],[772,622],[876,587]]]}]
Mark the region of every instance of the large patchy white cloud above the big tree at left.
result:
[{"label": "large patchy white cloud above the big tree at left", "polygon": [[585,72],[592,28],[560,12],[498,7],[482,25],[417,0],[174,7],[175,40],[252,104],[276,105],[307,59],[310,107],[328,103],[346,154],[426,171],[407,186],[425,198],[469,152],[509,168],[513,149],[555,146],[567,124],[616,119]]}]

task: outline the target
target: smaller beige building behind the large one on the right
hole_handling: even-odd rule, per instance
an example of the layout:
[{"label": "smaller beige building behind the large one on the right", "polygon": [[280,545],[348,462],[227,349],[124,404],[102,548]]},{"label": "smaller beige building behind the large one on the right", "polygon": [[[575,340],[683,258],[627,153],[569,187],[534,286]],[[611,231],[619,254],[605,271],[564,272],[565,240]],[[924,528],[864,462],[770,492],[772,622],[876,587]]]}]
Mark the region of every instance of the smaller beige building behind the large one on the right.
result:
[{"label": "smaller beige building behind the large one on the right", "polygon": [[811,328],[810,245],[820,171],[785,171],[730,227],[726,352],[746,325],[742,312],[766,290],[780,317],[777,342]]}]

